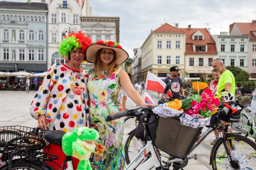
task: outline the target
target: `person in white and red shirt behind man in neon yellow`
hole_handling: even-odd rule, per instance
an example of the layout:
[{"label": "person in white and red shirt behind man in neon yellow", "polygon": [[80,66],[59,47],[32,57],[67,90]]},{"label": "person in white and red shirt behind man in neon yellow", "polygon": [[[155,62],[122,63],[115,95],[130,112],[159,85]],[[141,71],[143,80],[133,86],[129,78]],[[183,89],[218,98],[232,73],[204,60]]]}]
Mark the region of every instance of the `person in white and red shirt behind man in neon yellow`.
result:
[{"label": "person in white and red shirt behind man in neon yellow", "polygon": [[[218,89],[218,81],[220,79],[220,74],[218,74],[215,70],[212,70],[212,81],[208,83],[208,86],[210,86],[210,89],[212,90],[212,94],[215,95]],[[220,138],[220,133],[218,129],[214,130],[215,139],[211,142],[211,145],[214,145],[214,143]]]}]

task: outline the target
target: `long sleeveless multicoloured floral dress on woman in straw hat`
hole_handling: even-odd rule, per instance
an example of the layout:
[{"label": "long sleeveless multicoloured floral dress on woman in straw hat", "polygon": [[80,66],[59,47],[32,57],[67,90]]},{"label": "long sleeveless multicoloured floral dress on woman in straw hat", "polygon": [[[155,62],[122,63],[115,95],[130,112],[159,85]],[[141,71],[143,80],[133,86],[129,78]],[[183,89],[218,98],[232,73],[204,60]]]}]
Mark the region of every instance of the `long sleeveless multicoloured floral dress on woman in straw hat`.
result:
[{"label": "long sleeveless multicoloured floral dress on woman in straw hat", "polygon": [[103,71],[96,76],[93,70],[89,71],[87,88],[90,97],[90,127],[99,132],[100,138],[96,141],[95,152],[90,162],[93,170],[122,170],[125,167],[124,119],[106,122],[106,117],[121,111],[118,96],[120,85],[118,73],[122,68],[116,68],[113,74],[107,76]]}]

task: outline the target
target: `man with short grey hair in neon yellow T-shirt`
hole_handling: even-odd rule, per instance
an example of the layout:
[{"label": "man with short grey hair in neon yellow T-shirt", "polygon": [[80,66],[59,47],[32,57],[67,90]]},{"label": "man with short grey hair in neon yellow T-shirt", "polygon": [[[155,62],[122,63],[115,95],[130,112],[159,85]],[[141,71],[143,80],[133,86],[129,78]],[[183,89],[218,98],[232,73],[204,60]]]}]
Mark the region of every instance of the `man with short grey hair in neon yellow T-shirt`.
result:
[{"label": "man with short grey hair in neon yellow T-shirt", "polygon": [[214,59],[212,61],[213,69],[221,74],[218,82],[218,92],[228,91],[235,96],[235,78],[230,70],[227,70],[224,66],[222,59]]}]

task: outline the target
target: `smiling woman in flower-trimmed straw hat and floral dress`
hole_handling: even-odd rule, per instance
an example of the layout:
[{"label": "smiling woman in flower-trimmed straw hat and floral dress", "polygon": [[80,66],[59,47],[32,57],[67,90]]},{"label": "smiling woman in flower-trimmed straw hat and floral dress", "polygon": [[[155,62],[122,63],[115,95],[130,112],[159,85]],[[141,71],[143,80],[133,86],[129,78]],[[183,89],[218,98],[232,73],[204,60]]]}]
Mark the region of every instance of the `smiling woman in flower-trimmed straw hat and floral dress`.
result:
[{"label": "smiling woman in flower-trimmed straw hat and floral dress", "polygon": [[90,126],[100,134],[96,150],[90,158],[92,169],[122,170],[125,167],[124,119],[106,122],[109,114],[121,111],[118,96],[120,86],[133,102],[139,106],[146,104],[136,92],[128,74],[119,65],[128,59],[128,54],[119,43],[97,41],[86,49],[86,61],[94,63],[89,70],[87,88],[90,98]]}]

